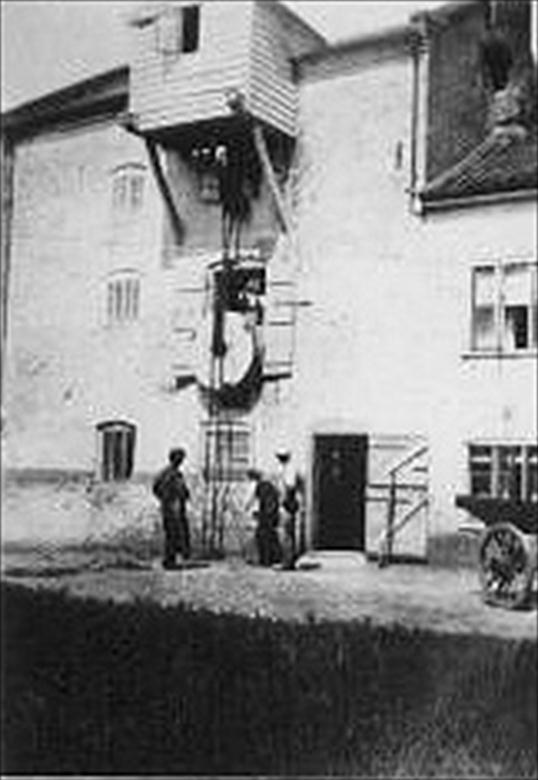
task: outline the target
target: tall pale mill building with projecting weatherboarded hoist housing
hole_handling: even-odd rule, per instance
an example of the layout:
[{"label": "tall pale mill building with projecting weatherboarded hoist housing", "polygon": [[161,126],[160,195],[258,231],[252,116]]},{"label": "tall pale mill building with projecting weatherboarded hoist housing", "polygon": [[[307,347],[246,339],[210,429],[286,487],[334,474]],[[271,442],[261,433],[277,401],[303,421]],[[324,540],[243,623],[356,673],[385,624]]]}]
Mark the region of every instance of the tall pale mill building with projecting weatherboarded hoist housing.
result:
[{"label": "tall pale mill building with projecting weatherboarded hoist housing", "polygon": [[433,560],[457,493],[536,500],[530,28],[471,0],[329,46],[276,2],[167,4],[129,71],[4,115],[6,500],[43,509],[7,536],[148,525],[175,444],[227,550],[283,440],[313,547],[377,555],[392,511]]}]

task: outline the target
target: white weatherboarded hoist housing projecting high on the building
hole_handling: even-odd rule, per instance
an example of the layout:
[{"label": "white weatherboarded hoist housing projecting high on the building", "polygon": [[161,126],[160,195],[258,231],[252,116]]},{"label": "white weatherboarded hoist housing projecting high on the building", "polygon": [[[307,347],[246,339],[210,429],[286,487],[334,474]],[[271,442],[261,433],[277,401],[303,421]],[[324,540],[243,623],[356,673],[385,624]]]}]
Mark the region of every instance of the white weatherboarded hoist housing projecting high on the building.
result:
[{"label": "white weatherboarded hoist housing projecting high on the building", "polygon": [[297,132],[296,58],[323,38],[274,2],[177,2],[138,12],[130,111],[142,132],[230,116],[240,93],[256,119]]}]

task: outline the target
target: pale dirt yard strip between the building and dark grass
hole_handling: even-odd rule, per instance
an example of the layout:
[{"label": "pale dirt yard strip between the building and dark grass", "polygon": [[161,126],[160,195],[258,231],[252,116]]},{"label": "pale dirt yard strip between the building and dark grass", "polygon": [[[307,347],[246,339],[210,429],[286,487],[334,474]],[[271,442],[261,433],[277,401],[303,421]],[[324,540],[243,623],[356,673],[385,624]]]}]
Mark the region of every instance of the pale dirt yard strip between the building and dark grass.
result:
[{"label": "pale dirt yard strip between the building and dark grass", "polygon": [[536,599],[525,611],[486,606],[472,569],[380,569],[359,556],[338,554],[320,556],[318,564],[289,572],[229,559],[163,571],[157,560],[113,553],[26,550],[2,553],[2,579],[117,602],[144,599],[293,621],[369,619],[443,633],[537,638]]}]

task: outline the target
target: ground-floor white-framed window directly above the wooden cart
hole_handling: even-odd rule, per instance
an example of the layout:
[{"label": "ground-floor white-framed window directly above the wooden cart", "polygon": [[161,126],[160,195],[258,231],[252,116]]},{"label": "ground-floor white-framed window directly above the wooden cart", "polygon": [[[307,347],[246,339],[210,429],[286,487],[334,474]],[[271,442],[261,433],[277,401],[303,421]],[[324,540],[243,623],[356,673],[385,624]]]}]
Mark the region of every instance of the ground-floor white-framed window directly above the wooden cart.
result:
[{"label": "ground-floor white-framed window directly above the wooden cart", "polygon": [[470,493],[538,503],[538,447],[531,444],[470,444]]}]

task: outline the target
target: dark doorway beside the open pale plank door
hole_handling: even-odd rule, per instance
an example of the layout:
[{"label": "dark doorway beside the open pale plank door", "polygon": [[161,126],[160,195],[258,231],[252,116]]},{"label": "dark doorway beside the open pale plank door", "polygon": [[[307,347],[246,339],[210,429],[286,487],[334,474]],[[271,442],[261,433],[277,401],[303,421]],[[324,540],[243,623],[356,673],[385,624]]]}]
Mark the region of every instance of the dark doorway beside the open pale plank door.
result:
[{"label": "dark doorway beside the open pale plank door", "polygon": [[318,549],[364,550],[368,437],[314,439],[314,543]]}]

